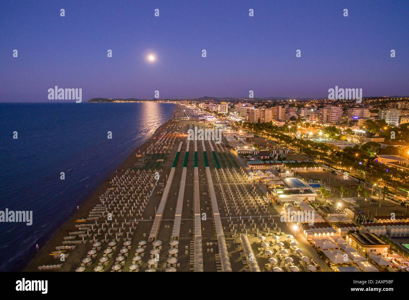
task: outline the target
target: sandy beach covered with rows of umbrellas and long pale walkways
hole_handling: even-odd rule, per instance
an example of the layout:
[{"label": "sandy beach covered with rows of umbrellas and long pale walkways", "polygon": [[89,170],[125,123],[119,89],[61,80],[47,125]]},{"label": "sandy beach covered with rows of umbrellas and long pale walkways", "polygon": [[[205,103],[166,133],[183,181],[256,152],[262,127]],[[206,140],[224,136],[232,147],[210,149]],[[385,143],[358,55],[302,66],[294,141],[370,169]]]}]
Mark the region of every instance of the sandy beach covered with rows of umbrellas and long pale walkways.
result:
[{"label": "sandy beach covered with rows of umbrellas and long pale walkways", "polygon": [[187,139],[193,126],[209,125],[178,106],[175,120],[133,167],[110,180],[99,202],[53,245],[55,252],[40,253],[29,268],[310,271],[311,258],[319,260],[314,249],[280,224],[224,143]]}]

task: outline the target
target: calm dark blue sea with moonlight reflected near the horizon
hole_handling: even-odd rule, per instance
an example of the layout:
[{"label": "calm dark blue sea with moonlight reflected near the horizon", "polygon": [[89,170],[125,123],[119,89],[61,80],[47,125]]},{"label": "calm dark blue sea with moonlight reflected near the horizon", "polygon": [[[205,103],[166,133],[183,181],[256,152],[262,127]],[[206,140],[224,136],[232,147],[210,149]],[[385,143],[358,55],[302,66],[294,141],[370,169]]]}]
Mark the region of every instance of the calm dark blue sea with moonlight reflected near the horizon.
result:
[{"label": "calm dark blue sea with moonlight reflected near the horizon", "polygon": [[41,247],[173,110],[164,103],[0,104],[0,210],[33,211],[31,226],[0,223],[0,271],[24,268],[35,244]]}]

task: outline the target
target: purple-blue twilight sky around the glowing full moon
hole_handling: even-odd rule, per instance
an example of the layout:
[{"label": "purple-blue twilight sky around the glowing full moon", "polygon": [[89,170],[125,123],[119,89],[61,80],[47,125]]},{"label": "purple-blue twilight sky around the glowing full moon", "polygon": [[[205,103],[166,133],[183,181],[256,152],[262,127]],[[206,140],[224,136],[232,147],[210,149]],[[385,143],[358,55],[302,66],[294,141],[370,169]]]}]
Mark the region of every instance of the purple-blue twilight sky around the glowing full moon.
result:
[{"label": "purple-blue twilight sky around the glowing full moon", "polygon": [[408,0],[3,0],[0,102],[49,102],[55,85],[82,88],[83,102],[151,99],[155,90],[160,98],[327,97],[335,85],[407,96],[408,16]]}]

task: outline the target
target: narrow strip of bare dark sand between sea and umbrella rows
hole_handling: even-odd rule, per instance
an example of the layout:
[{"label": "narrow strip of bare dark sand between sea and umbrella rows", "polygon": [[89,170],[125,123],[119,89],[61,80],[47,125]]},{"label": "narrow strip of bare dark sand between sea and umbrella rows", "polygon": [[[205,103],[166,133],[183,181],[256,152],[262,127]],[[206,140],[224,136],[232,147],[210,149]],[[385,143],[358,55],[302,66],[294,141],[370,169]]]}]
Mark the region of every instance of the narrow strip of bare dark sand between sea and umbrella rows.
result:
[{"label": "narrow strip of bare dark sand between sea and umbrella rows", "polygon": [[[153,136],[156,138],[159,138],[160,136],[160,131],[162,131],[164,128],[169,126],[171,122],[173,122],[174,118],[174,113],[173,116],[164,122],[160,127],[158,127],[155,130],[155,133]],[[68,231],[72,231],[73,224],[75,224],[75,220],[81,219],[84,216],[88,216],[89,211],[96,205],[100,203],[99,197],[105,193],[107,187],[110,186],[110,181],[115,177],[115,176],[121,176],[125,171],[130,168],[134,167],[135,163],[139,160],[139,157],[136,157],[136,154],[138,151],[143,152],[146,150],[146,148],[151,144],[152,139],[149,138],[144,144],[142,144],[140,147],[135,148],[129,156],[124,160],[124,162],[121,163],[121,165],[118,167],[117,171],[114,171],[108,178],[103,180],[97,189],[95,189],[92,192],[92,195],[85,199],[82,204],[80,204],[79,209],[74,211],[72,215],[63,223],[58,226],[58,228],[52,233],[52,235],[48,238],[48,240],[45,242],[43,245],[39,245],[40,249],[36,251],[34,254],[34,257],[27,262],[25,267],[20,270],[23,272],[34,272],[38,271],[37,267],[39,265],[42,265],[44,261],[49,260],[49,253],[52,251],[55,251],[55,246],[58,244],[61,244],[61,241],[63,240],[64,236]],[[34,245],[32,247],[35,247]]]}]

